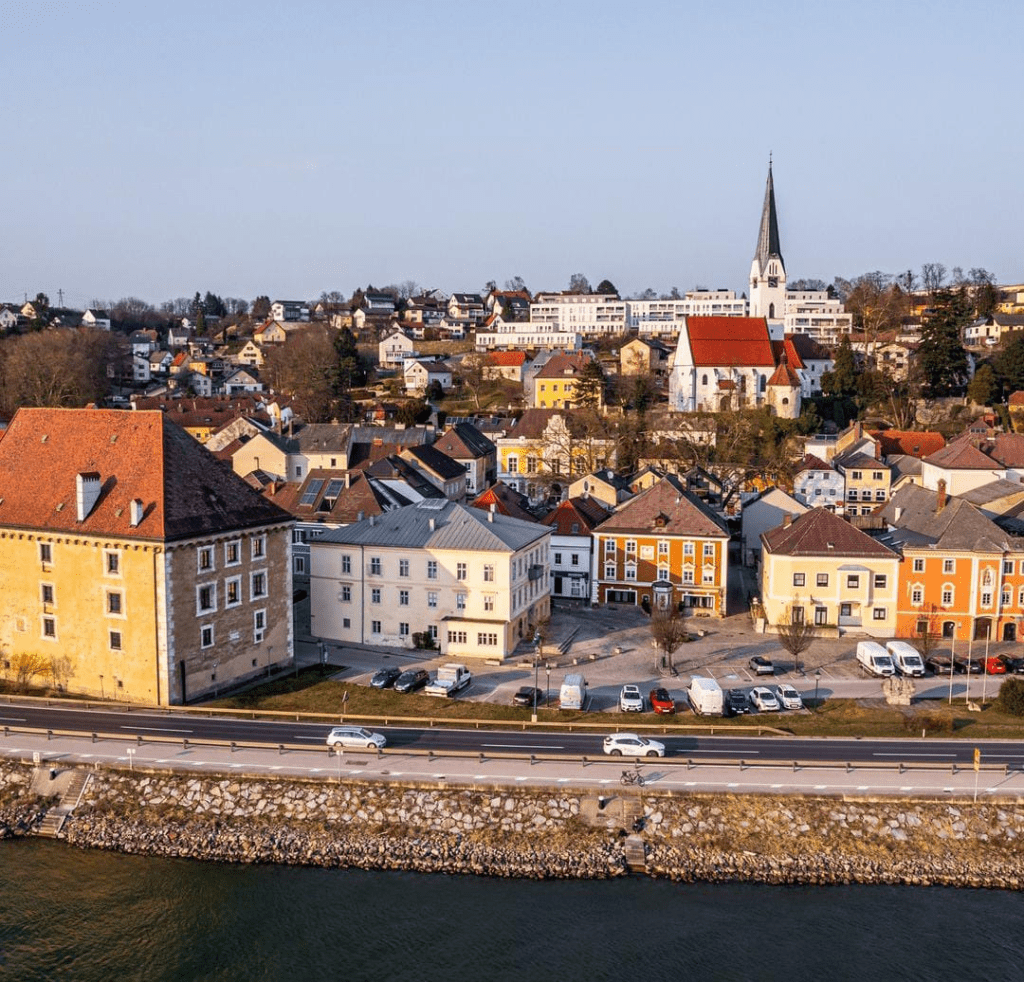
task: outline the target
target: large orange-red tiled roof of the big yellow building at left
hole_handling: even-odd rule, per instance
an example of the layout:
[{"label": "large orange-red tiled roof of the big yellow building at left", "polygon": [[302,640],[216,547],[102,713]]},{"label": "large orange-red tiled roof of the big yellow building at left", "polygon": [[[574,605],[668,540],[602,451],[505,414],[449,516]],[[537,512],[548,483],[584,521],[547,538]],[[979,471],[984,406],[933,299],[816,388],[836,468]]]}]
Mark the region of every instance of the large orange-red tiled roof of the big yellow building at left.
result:
[{"label": "large orange-red tiled roof of the big yellow building at left", "polygon": [[[76,477],[89,472],[99,497],[79,521]],[[6,527],[169,541],[288,517],[160,412],[23,409],[0,442]]]}]

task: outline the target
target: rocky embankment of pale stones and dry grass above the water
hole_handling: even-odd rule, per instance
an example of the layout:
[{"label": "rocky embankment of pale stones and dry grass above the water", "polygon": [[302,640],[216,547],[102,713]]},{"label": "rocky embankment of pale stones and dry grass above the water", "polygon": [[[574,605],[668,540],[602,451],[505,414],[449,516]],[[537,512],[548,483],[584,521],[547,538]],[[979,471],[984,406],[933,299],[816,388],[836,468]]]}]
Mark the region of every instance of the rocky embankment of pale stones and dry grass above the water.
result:
[{"label": "rocky embankment of pale stones and dry grass above the water", "polygon": [[[0,767],[0,835],[41,814],[28,774]],[[622,826],[638,814],[648,871],[673,880],[1024,887],[1016,803],[644,793],[598,808],[564,788],[96,771],[60,838],[226,862],[603,879],[628,871]]]}]

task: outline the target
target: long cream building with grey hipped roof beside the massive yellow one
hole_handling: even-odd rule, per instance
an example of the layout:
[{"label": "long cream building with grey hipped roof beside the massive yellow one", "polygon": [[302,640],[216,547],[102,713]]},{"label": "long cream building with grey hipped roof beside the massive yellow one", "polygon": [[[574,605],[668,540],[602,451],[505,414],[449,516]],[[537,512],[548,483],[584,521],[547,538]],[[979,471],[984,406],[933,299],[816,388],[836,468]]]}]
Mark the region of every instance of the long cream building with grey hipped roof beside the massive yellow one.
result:
[{"label": "long cream building with grey hipped roof beside the massive yellow one", "polygon": [[424,501],[310,542],[312,633],[504,660],[551,607],[551,529],[495,511]]}]

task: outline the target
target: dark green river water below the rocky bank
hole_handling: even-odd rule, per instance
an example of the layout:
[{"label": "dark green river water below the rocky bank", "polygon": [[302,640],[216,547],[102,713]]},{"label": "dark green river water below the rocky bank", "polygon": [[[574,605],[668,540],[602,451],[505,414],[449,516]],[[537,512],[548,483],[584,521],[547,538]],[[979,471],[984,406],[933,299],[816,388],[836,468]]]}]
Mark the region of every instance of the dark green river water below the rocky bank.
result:
[{"label": "dark green river water below the rocky bank", "polygon": [[484,880],[0,842],[0,980],[1024,978],[1024,895]]}]

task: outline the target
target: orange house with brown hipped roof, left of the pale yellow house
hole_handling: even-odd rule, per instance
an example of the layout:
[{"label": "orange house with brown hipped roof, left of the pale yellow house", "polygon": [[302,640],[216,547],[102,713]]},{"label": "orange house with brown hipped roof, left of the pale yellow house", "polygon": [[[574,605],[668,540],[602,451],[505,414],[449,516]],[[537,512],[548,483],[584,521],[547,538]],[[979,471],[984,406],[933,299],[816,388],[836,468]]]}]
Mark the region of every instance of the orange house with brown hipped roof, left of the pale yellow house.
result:
[{"label": "orange house with brown hipped roof, left of the pale yellow house", "polygon": [[591,600],[724,617],[729,528],[666,477],[594,529]]}]

